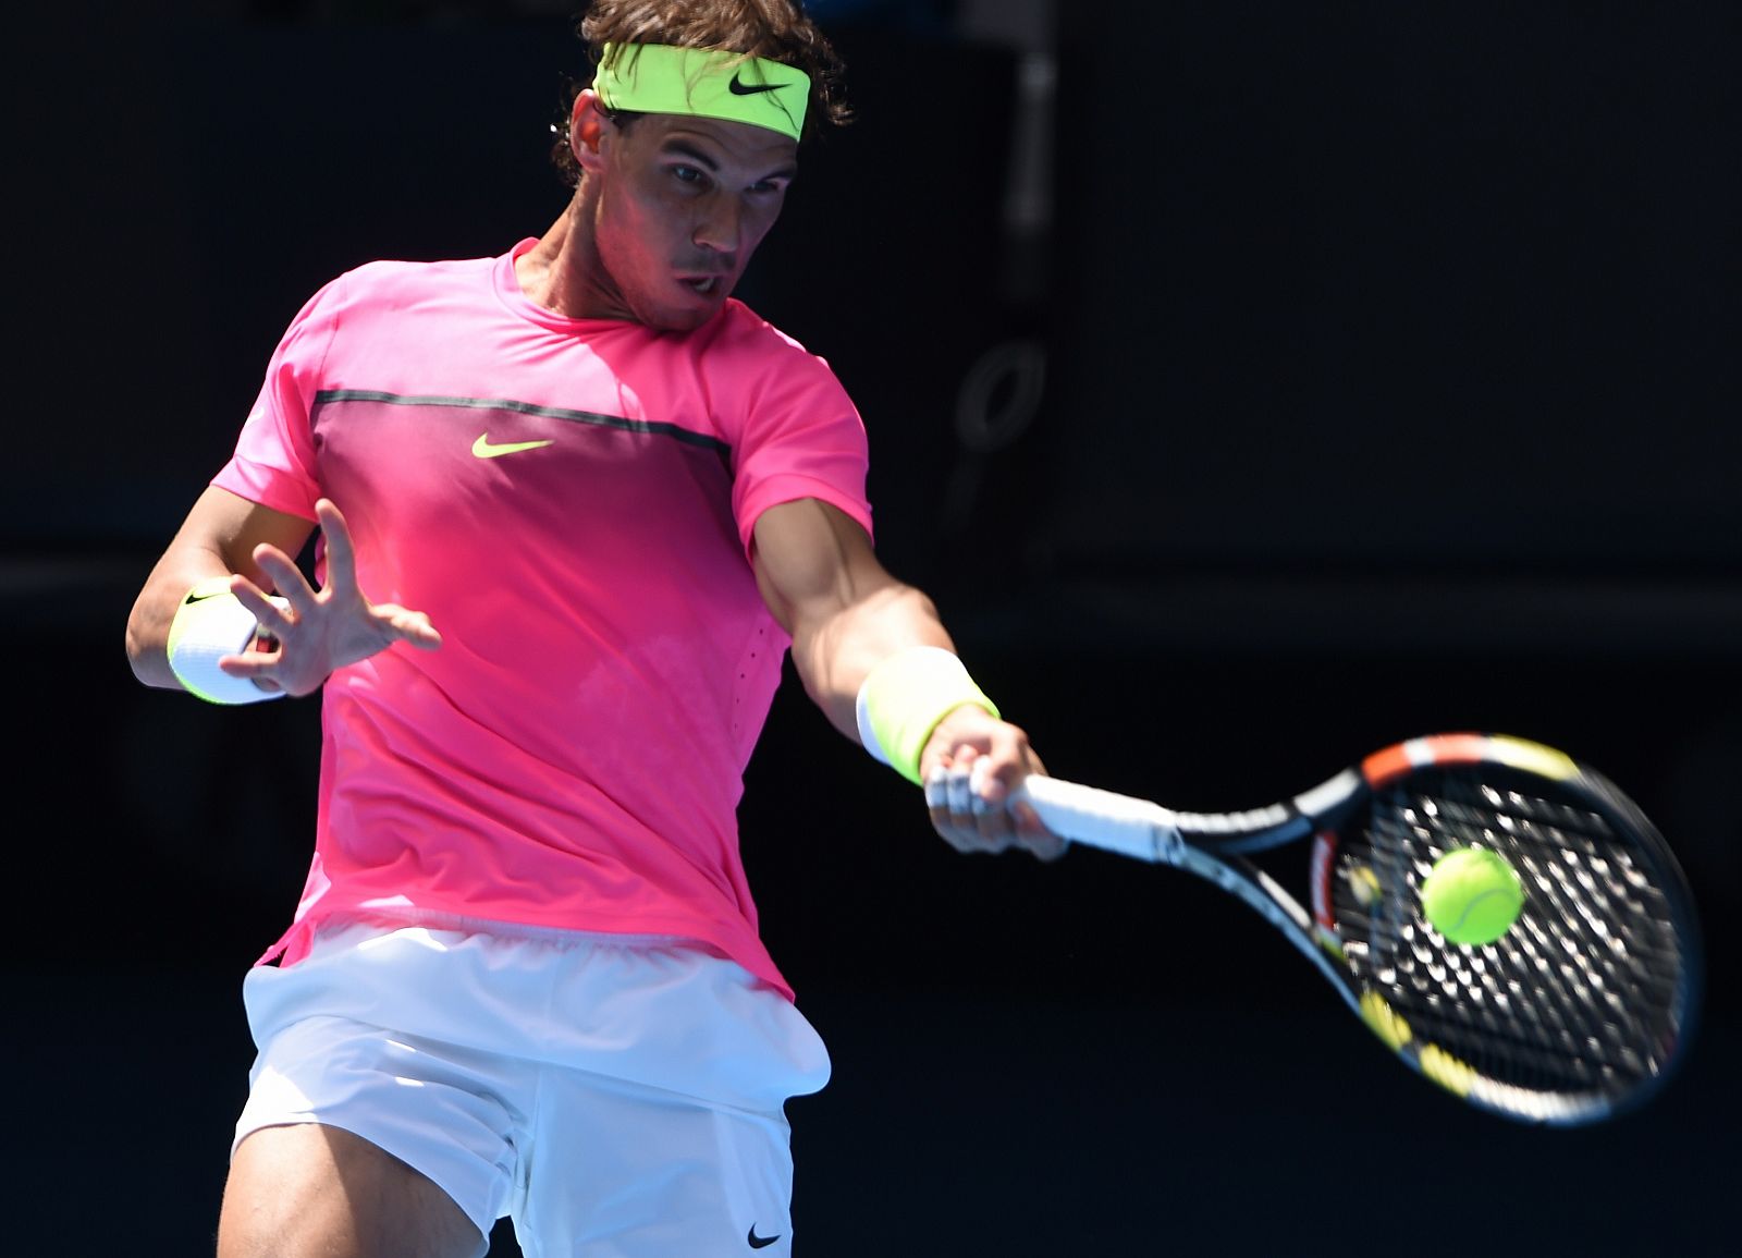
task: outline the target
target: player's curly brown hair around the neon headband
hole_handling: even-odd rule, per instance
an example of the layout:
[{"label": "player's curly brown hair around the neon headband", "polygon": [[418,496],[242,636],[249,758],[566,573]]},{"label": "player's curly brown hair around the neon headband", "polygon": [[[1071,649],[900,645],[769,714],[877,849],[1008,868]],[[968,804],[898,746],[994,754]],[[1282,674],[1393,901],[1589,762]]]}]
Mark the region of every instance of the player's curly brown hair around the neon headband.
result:
[{"label": "player's curly brown hair around the neon headband", "polygon": [[[591,0],[575,23],[575,33],[587,45],[591,70],[598,70],[606,44],[669,44],[768,57],[810,75],[805,139],[822,134],[826,125],[852,120],[843,87],[847,66],[801,0]],[[550,125],[556,136],[550,162],[570,186],[580,181],[580,166],[568,145],[568,118],[575,96],[591,82],[589,73],[564,84],[559,113]],[[634,115],[613,117],[627,122]]]}]

